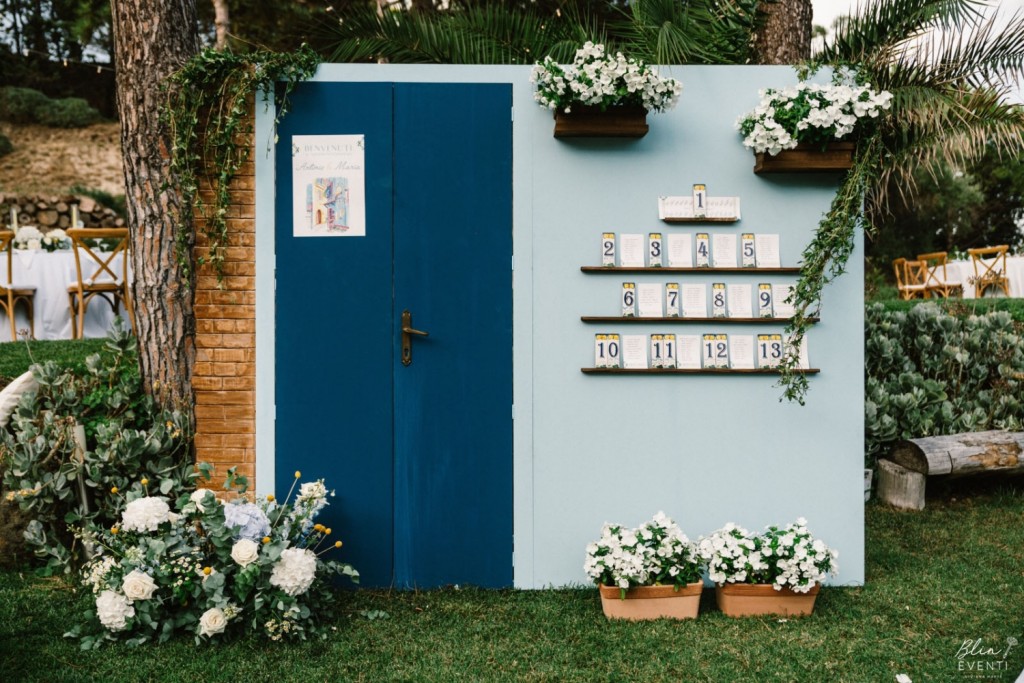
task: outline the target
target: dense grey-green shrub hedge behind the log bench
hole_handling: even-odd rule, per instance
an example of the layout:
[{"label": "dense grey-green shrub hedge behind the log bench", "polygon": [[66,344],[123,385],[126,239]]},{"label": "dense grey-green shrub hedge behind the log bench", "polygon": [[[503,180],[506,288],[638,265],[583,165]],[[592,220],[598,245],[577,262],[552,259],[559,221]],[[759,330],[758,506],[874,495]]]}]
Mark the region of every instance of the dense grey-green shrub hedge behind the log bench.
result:
[{"label": "dense grey-green shrub hedge behind the log bench", "polygon": [[935,304],[867,307],[869,461],[900,439],[1024,425],[1024,335],[1009,312],[957,317]]}]

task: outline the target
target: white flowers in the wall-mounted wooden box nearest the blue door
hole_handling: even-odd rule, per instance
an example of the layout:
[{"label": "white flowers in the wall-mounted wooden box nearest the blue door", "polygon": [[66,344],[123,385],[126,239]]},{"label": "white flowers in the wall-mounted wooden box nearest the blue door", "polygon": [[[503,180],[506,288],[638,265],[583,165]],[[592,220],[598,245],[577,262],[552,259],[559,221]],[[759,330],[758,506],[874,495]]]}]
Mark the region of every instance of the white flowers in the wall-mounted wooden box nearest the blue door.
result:
[{"label": "white flowers in the wall-mounted wooden box nearest the blue door", "polygon": [[529,82],[537,92],[534,99],[550,110],[566,114],[572,104],[600,108],[635,104],[648,112],[667,112],[679,101],[683,85],[657,72],[639,59],[627,58],[622,52],[606,54],[603,45],[588,41],[577,50],[571,66],[562,68],[551,57],[545,57],[530,72]]}]

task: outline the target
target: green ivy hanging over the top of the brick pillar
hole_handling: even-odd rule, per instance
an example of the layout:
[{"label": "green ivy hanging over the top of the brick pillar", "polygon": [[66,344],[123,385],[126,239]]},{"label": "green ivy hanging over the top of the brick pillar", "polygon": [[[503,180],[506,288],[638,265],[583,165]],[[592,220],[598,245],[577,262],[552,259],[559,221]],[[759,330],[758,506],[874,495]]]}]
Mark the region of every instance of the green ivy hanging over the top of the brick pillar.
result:
[{"label": "green ivy hanging over the top of the brick pillar", "polygon": [[[169,177],[181,197],[175,253],[185,283],[193,275],[188,252],[196,211],[206,219],[203,232],[209,240],[209,251],[199,264],[211,263],[217,281],[223,279],[230,183],[249,159],[250,97],[260,91],[272,93],[265,105],[274,105],[276,128],[289,93],[319,63],[319,55],[306,45],[280,53],[236,54],[208,48],[168,79],[163,114],[171,140]],[[204,201],[201,189],[212,193],[211,201]]]}]

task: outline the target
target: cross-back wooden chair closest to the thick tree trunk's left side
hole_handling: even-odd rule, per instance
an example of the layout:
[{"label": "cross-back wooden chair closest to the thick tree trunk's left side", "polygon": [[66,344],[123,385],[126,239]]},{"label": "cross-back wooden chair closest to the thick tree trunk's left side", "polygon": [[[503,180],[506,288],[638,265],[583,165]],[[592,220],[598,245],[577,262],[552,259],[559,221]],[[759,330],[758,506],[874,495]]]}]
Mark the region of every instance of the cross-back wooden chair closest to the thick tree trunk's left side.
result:
[{"label": "cross-back wooden chair closest to the thick tree trunk's left side", "polygon": [[[106,301],[114,313],[121,312],[124,304],[132,332],[135,331],[135,311],[132,308],[131,295],[128,293],[128,228],[127,227],[73,227],[68,229],[72,248],[75,250],[75,270],[78,282],[68,288],[68,304],[71,307],[72,339],[81,339],[85,328],[85,311],[89,302],[95,297]],[[95,252],[89,246],[92,240],[114,240],[116,245],[110,252]],[[96,270],[84,275],[82,271],[83,254],[86,263],[95,263]],[[121,267],[115,272],[118,255],[121,255]]]}]

